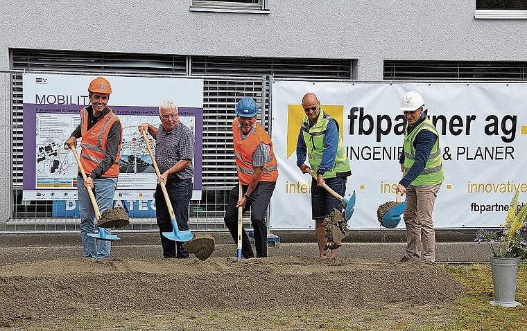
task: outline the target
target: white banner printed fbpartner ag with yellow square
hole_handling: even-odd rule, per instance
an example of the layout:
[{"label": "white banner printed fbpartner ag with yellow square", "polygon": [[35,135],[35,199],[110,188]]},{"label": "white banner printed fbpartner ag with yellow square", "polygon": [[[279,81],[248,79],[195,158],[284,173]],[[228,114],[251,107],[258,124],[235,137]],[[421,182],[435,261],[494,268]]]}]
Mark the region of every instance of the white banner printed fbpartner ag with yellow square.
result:
[{"label": "white banner printed fbpartner ag with yellow square", "polygon": [[279,178],[270,229],[314,229],[311,176],[296,165],[302,97],[310,92],[338,121],[352,166],[345,197],[355,191],[356,204],[349,228],[380,229],[377,208],[395,200],[402,177],[406,119],[400,106],[412,90],[422,94],[440,135],[446,178],[435,200],[436,229],[497,227],[516,191],[520,203],[527,201],[527,84],[274,80],[270,129]]}]

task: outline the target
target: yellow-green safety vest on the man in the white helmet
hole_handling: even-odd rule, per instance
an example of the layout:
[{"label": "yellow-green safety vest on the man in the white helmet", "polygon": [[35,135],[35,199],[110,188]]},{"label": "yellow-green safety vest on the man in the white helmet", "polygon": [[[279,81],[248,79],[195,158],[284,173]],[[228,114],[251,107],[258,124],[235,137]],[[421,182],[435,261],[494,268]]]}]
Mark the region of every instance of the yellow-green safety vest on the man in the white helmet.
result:
[{"label": "yellow-green safety vest on the man in the white helmet", "polygon": [[413,141],[421,130],[429,130],[433,132],[438,138],[430,152],[428,161],[424,166],[424,170],[420,173],[415,181],[411,182],[413,186],[433,186],[444,181],[443,164],[441,159],[441,148],[439,146],[439,134],[435,129],[429,118],[425,118],[422,123],[417,125],[410,134],[408,134],[408,125],[404,129],[404,173],[408,172],[415,162],[415,147]]}]

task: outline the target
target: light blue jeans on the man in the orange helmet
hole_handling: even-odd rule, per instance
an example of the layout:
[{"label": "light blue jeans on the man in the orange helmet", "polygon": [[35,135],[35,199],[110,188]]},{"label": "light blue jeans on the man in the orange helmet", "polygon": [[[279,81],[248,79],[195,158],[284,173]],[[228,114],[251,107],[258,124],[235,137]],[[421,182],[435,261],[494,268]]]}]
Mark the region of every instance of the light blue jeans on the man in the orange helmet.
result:
[{"label": "light blue jeans on the man in the orange helmet", "polygon": [[[114,193],[117,187],[116,178],[98,178],[94,180],[94,195],[99,211],[103,213],[106,209],[114,206]],[[83,256],[85,258],[109,258],[110,241],[96,240],[88,233],[97,233],[95,222],[95,211],[92,200],[89,199],[88,191],[84,188],[83,177],[77,177],[78,201],[80,203],[80,239],[83,240]],[[107,235],[112,231],[104,229]]]}]

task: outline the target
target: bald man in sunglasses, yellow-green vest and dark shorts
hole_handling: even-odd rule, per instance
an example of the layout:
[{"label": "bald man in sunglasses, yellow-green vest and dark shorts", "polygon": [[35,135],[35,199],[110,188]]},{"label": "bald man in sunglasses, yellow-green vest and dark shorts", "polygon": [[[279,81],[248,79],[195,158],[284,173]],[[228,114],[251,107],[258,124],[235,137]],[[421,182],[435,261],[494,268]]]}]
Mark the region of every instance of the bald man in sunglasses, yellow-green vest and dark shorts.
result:
[{"label": "bald man in sunglasses, yellow-green vest and dark shorts", "polygon": [[[306,116],[297,140],[297,166],[304,174],[306,169],[311,169],[317,175],[316,181],[311,181],[311,213],[318,250],[320,258],[327,258],[328,247],[331,247],[330,256],[336,258],[339,245],[327,242],[324,220],[334,208],[342,211],[342,205],[322,185],[327,184],[339,195],[345,195],[347,177],[352,175],[352,169],[343,149],[338,123],[320,108],[317,96],[307,93],[302,98],[302,108]],[[304,163],[306,156],[309,156],[309,165]]]}]

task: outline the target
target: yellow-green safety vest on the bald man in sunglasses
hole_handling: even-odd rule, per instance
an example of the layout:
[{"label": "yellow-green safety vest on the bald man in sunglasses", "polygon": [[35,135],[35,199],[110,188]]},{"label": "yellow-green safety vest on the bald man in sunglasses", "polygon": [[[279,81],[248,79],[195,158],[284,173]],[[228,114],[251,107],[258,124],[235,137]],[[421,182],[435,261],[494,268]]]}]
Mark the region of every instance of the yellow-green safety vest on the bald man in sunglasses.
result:
[{"label": "yellow-green safety vest on the bald man in sunglasses", "polygon": [[[317,172],[320,162],[322,161],[322,154],[324,153],[324,137],[326,134],[327,124],[330,120],[335,119],[328,114],[325,114],[322,109],[320,109],[317,122],[313,126],[311,126],[311,120],[308,116],[305,116],[302,120],[302,134],[307,146],[307,156],[309,159],[309,164],[311,165],[311,169],[313,169],[313,172],[315,173]],[[337,123],[336,120],[335,123]],[[352,168],[349,166],[349,160],[344,154],[342,137],[340,134],[338,134],[338,147],[335,163],[331,170],[324,173],[322,178],[346,177],[349,175],[352,175]]]}]

